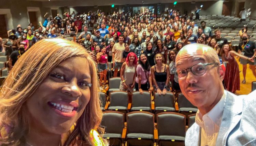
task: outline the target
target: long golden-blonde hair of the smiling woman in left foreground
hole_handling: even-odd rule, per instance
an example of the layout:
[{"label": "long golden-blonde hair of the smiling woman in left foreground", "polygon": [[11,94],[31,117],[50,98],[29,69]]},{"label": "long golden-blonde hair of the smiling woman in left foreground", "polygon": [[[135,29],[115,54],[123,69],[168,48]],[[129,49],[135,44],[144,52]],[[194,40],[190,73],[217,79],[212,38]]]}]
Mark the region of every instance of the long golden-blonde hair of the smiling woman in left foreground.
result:
[{"label": "long golden-blonde hair of the smiling woman in left foreground", "polygon": [[[77,136],[86,144],[94,145],[89,132],[91,129],[98,128],[102,119],[96,65],[83,47],[61,38],[43,39],[35,43],[17,60],[5,79],[0,93],[0,131],[6,126],[10,131],[0,138],[0,142],[6,145],[25,143],[24,135],[28,132],[28,121],[24,103],[51,70],[74,56],[85,57],[88,60],[93,85],[90,87],[90,101],[76,121],[74,129],[67,131],[70,134],[64,145],[74,144]],[[100,134],[103,132],[101,128],[97,131]]]}]

